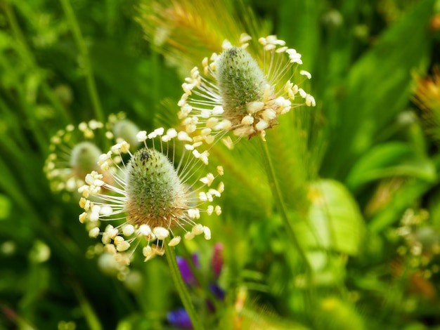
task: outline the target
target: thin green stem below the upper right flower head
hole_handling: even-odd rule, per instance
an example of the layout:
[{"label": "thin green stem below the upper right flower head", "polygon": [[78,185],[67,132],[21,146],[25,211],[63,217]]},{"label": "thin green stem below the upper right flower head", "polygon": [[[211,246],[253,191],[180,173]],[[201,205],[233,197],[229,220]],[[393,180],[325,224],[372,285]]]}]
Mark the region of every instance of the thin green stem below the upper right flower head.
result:
[{"label": "thin green stem below the upper right flower head", "polygon": [[299,244],[297,235],[295,234],[295,230],[293,230],[292,223],[290,223],[289,217],[287,216],[287,208],[285,206],[285,202],[283,200],[283,194],[280,190],[280,185],[278,183],[278,179],[275,174],[275,169],[273,167],[273,161],[271,157],[271,153],[268,150],[267,143],[263,140],[261,141],[261,147],[264,151],[264,156],[266,157],[266,173],[269,180],[269,185],[271,186],[271,191],[273,198],[275,199],[278,212],[280,212],[280,216],[283,219],[285,231],[287,232],[287,236],[289,237],[290,242],[294,245],[297,250],[299,257],[302,259],[306,270],[311,276],[311,266],[309,263],[309,259],[306,256],[306,253],[302,249],[301,244]]}]

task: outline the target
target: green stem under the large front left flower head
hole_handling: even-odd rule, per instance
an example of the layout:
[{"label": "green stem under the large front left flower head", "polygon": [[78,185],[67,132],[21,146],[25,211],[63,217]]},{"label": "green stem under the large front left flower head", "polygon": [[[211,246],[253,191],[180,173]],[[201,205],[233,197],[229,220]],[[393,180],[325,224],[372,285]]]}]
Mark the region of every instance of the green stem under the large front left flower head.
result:
[{"label": "green stem under the large front left flower head", "polygon": [[188,292],[185,282],[183,282],[183,278],[179,270],[179,265],[177,265],[176,253],[174,252],[174,248],[172,246],[168,246],[168,242],[164,242],[164,248],[165,256],[167,256],[169,270],[171,272],[174,284],[176,285],[176,289],[183,303],[183,307],[186,309],[186,312],[188,312],[191,323],[193,324],[193,329],[202,330],[204,329],[202,322],[200,322],[200,318],[191,301],[190,293]]}]

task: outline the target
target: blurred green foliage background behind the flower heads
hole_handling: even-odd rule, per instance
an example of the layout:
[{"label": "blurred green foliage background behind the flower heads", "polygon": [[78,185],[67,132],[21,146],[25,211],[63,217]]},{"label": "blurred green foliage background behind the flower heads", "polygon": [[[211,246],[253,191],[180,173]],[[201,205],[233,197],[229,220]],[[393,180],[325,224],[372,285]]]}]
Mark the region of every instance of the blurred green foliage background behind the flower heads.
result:
[{"label": "blurred green foliage background behind the flower heads", "polygon": [[211,151],[224,213],[207,220],[212,241],[176,249],[210,280],[224,244],[225,298],[212,310],[190,288],[206,328],[440,329],[434,0],[0,0],[0,329],[179,329],[164,258],[118,276],[44,162],[68,124],[125,112],[143,130],[175,126],[184,77],[243,30],[302,53],[317,107],[268,131],[276,178],[257,138]]}]

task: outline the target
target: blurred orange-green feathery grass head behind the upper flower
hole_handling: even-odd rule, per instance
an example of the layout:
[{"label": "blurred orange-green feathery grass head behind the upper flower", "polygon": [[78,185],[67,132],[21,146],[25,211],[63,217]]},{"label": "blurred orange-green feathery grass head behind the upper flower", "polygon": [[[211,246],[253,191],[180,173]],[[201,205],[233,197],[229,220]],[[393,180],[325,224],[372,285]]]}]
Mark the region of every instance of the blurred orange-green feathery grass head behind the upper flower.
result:
[{"label": "blurred orange-green feathery grass head behind the upper flower", "polygon": [[259,35],[267,30],[250,6],[235,0],[141,0],[136,20],[145,38],[183,77],[200,54],[221,51],[224,39],[235,41],[241,31]]}]

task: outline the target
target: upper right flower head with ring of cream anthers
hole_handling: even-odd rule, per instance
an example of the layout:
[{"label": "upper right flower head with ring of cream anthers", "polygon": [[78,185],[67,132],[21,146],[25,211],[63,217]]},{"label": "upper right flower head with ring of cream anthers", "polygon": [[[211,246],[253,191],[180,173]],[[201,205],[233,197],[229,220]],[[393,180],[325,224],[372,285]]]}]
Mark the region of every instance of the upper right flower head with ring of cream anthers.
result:
[{"label": "upper right flower head with ring of cream anthers", "polygon": [[[179,117],[188,134],[210,144],[232,131],[235,136],[260,135],[278,124],[278,116],[292,107],[316,105],[312,95],[299,88],[311,74],[297,70],[301,55],[276,36],[259,39],[261,54],[247,51],[251,38],[242,34],[241,46],[224,42],[224,51],[193,68],[182,85]],[[294,81],[293,79],[298,79]],[[224,139],[232,147],[231,138]]]}]

